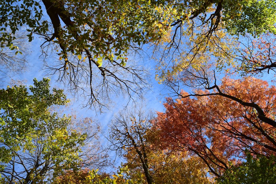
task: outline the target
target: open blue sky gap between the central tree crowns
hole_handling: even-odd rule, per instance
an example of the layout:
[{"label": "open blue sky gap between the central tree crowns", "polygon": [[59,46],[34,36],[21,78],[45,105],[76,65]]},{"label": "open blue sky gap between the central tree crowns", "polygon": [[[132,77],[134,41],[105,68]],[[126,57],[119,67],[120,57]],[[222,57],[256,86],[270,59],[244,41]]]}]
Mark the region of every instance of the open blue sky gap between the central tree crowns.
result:
[{"label": "open blue sky gap between the central tree crowns", "polygon": [[[103,129],[103,132],[108,132],[108,124],[110,124],[110,121],[112,120],[112,117],[117,114],[120,110],[123,110],[125,106],[128,104],[128,98],[126,97],[111,97],[113,101],[113,106],[111,106],[109,109],[104,109],[103,113],[99,113],[98,110],[95,109],[89,109],[87,107],[83,107],[82,104],[84,104],[86,101],[83,97],[79,96],[78,99],[76,99],[75,96],[70,94],[70,92],[67,91],[66,87],[59,82],[56,82],[57,76],[55,75],[47,75],[43,68],[43,61],[39,58],[41,55],[40,50],[41,41],[38,37],[35,37],[34,40],[30,43],[30,49],[29,49],[29,55],[28,55],[28,66],[26,67],[26,70],[23,72],[16,74],[12,76],[13,80],[20,80],[24,81],[23,83],[27,86],[33,84],[33,78],[37,78],[37,80],[41,80],[43,77],[49,77],[51,79],[50,85],[51,87],[57,87],[59,89],[64,89],[65,94],[67,94],[67,97],[71,99],[70,106],[68,109],[73,110],[76,112],[76,115],[78,118],[86,118],[90,117],[99,122],[101,124],[101,127]],[[149,90],[144,95],[144,99],[142,100],[142,103],[145,105],[146,109],[152,110],[152,111],[164,111],[163,103],[165,101],[165,97],[167,95],[167,91],[164,89],[164,86],[162,84],[158,84],[158,82],[155,80],[155,65],[156,62],[152,59],[150,59],[150,56],[152,55],[152,52],[150,49],[146,48],[147,45],[145,45],[146,52],[143,55],[149,55],[146,56],[143,59],[134,60],[134,57],[129,56],[129,59],[133,59],[135,62],[140,62],[147,68],[147,70],[150,72],[150,81],[149,83],[152,85]],[[51,63],[56,61],[56,55],[54,57],[47,58],[47,62]],[[5,78],[5,81],[2,81],[2,88],[6,88],[6,85],[9,85],[10,78]],[[136,99],[138,103],[141,103],[141,99]],[[128,108],[132,107],[132,102],[128,104]],[[70,110],[65,111],[65,113],[70,114]],[[107,140],[104,138],[104,136],[101,137],[103,140],[103,144],[106,145]],[[115,158],[115,153],[110,153],[111,158]],[[115,164],[118,166],[120,165],[120,158],[116,158]]]}]

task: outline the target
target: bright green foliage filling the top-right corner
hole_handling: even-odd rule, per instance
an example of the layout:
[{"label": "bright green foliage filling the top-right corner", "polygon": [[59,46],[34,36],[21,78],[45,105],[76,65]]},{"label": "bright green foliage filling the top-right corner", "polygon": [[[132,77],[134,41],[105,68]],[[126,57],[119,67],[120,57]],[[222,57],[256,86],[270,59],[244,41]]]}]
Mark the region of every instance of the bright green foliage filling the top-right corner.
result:
[{"label": "bright green foliage filling the top-right corner", "polygon": [[276,2],[270,0],[223,1],[223,21],[229,33],[259,36],[276,34]]}]

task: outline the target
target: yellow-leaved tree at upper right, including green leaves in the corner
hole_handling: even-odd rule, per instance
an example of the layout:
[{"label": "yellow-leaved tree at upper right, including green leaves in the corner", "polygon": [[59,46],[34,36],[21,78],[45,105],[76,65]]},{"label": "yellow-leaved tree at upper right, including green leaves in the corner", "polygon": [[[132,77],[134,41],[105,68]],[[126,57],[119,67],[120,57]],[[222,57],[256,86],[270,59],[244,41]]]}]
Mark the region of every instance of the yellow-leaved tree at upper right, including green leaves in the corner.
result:
[{"label": "yellow-leaved tree at upper right, including green leaves in the corner", "polygon": [[244,41],[240,35],[249,33],[250,42],[262,33],[275,34],[275,7],[269,1],[189,1],[184,9],[190,14],[174,21],[174,29],[156,45],[156,78],[163,82],[210,60],[220,70],[235,66],[235,49]]}]

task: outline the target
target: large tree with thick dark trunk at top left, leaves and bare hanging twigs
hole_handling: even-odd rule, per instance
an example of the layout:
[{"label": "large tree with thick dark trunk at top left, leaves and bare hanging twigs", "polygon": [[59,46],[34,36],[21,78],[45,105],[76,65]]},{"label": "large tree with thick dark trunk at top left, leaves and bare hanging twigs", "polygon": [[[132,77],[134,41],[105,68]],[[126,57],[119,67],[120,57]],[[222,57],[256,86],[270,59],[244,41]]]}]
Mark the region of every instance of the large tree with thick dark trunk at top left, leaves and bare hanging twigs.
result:
[{"label": "large tree with thick dark trunk at top left, leaves and bare hanging twigs", "polygon": [[[166,10],[162,3],[157,5]],[[43,57],[49,54],[47,49],[59,55],[57,62],[48,64],[50,72],[57,73],[62,81],[68,79],[71,89],[82,89],[89,99],[87,106],[101,107],[110,92],[132,95],[143,91],[143,68],[126,66],[127,51],[135,51],[163,34],[156,34],[157,22],[177,14],[170,14],[171,9],[166,12],[156,14],[145,0],[1,1],[1,41],[7,43],[1,42],[1,46],[13,45],[12,34],[18,25],[27,27],[29,41],[34,35],[45,40],[41,45]]]}]

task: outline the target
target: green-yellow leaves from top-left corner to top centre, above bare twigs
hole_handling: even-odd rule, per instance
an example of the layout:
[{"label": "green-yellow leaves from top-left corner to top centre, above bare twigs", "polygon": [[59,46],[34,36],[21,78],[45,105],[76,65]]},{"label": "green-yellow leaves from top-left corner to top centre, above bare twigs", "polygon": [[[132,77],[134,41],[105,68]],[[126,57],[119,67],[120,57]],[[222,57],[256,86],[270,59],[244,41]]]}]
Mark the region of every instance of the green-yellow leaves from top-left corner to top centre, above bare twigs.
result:
[{"label": "green-yellow leaves from top-left corner to top centre, above bare twigs", "polygon": [[[85,57],[97,58],[99,67],[103,59],[111,62],[118,59],[124,65],[127,61],[127,51],[134,46],[133,44],[139,47],[150,40],[156,40],[160,34],[168,30],[167,25],[158,25],[158,22],[161,23],[163,20],[171,22],[179,17],[175,8],[167,9],[171,4],[170,1],[45,0],[42,2],[46,5],[54,29],[52,37],[45,36],[46,41],[60,45],[61,59],[67,60],[72,55],[81,59],[82,52],[87,49],[91,53]],[[44,17],[45,10],[39,1],[2,0],[0,7],[0,31],[3,34],[0,43],[8,43],[1,47],[12,46],[13,34],[19,30],[19,26],[28,27],[29,41],[32,41],[34,33],[47,35],[51,32],[50,23]],[[162,11],[157,11],[155,7]],[[54,20],[57,15],[64,22],[64,26],[59,20]],[[160,32],[158,29],[161,27]]]}]

